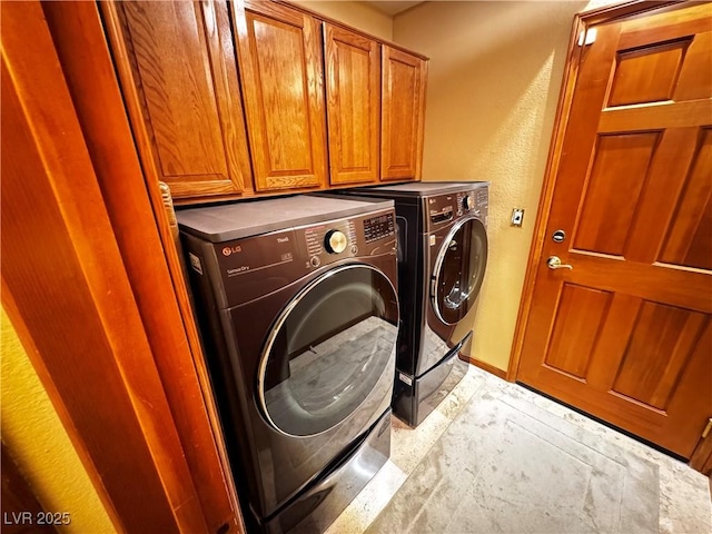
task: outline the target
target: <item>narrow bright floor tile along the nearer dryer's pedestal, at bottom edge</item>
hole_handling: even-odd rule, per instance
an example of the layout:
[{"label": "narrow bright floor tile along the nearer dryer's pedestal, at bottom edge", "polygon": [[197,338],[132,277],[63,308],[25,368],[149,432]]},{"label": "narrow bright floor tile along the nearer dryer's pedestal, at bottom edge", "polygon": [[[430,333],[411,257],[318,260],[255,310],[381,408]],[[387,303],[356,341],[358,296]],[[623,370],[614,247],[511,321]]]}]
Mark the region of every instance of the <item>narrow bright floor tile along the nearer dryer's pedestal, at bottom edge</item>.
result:
[{"label": "narrow bright floor tile along the nearer dryer's pedestal, at bottom edge", "polygon": [[378,516],[407,478],[406,474],[388,461],[356,496],[346,510],[329,525],[325,534],[360,534]]}]

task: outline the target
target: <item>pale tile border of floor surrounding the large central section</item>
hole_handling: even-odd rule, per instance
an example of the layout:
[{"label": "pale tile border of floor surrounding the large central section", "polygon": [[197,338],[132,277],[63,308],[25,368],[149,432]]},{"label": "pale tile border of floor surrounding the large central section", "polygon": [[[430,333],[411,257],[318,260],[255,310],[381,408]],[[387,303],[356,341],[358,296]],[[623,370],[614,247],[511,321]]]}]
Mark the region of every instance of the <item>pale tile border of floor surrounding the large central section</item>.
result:
[{"label": "pale tile border of floor surrounding the large central section", "polygon": [[[546,414],[548,425],[565,425],[573,439],[595,439],[596,444],[619,448],[621,454],[632,454],[642,463],[652,463],[659,472],[659,531],[662,534],[711,533],[712,502],[709,479],[678,462],[635,439],[601,425],[576,412],[536,395],[521,386],[507,383],[469,366],[463,380],[445,397],[438,408],[415,429],[393,419],[390,459],[374,479],[329,526],[327,534],[360,534],[368,530],[376,517],[394,500],[396,493],[406,491],[408,477],[423,476],[422,463],[427,453],[438,444],[445,432],[468,402],[495,396],[516,404],[518,411]],[[472,406],[467,414],[473,412]],[[557,423],[558,422],[558,423]],[[456,428],[453,427],[451,431]],[[452,436],[453,432],[448,432]],[[439,444],[438,444],[439,445]],[[591,444],[589,444],[591,445]],[[599,445],[595,445],[599,446]],[[411,482],[418,483],[414,479]],[[413,486],[413,484],[411,484]],[[394,500],[395,502],[395,500]],[[382,516],[380,520],[384,517]],[[464,525],[463,525],[464,526]],[[451,525],[451,532],[457,527]],[[418,527],[408,532],[418,532]],[[523,531],[524,532],[524,531]],[[390,533],[389,533],[390,534]],[[394,533],[395,534],[395,533]]]}]

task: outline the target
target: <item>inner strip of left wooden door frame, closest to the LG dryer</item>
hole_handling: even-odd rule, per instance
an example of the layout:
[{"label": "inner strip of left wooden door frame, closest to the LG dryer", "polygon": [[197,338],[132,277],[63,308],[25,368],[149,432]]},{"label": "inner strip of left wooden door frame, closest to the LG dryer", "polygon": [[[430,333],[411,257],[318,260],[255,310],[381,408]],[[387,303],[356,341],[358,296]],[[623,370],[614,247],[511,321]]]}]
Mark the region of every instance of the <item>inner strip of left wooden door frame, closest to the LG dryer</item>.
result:
[{"label": "inner strip of left wooden door frame, closest to the LG dryer", "polygon": [[[111,4],[103,2],[102,7],[107,9]],[[217,532],[227,524],[228,532],[241,532],[239,506],[224,454],[217,407],[209,394],[200,340],[192,323],[181,259],[169,239],[161,240],[161,235],[171,235],[170,227],[168,220],[160,217],[162,202],[157,181],[141,171],[99,6],[43,2],[42,11],[208,531]],[[105,20],[118,18],[105,17]],[[85,50],[91,50],[91,55],[80,52]]]}]

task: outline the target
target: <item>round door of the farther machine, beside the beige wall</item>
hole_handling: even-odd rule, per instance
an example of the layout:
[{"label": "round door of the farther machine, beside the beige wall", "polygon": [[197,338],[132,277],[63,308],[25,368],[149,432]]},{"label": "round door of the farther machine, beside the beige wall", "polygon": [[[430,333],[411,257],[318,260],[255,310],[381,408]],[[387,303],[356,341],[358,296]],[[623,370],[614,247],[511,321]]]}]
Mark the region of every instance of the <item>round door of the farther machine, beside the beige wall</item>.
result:
[{"label": "round door of the farther machine, beside the beige wall", "polygon": [[446,325],[459,322],[472,308],[487,266],[487,233],[475,217],[455,224],[435,260],[431,303]]}]

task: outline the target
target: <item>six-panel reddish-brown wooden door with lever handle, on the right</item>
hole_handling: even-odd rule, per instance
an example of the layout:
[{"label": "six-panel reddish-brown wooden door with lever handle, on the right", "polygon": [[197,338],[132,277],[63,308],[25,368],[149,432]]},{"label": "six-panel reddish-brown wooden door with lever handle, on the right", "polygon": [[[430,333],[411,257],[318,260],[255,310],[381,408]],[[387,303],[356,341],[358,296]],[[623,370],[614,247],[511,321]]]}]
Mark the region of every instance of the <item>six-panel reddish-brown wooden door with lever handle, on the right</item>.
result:
[{"label": "six-panel reddish-brown wooden door with lever handle, on the right", "polygon": [[517,380],[690,457],[712,415],[712,6],[593,30]]}]

